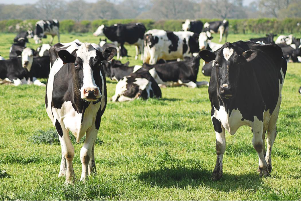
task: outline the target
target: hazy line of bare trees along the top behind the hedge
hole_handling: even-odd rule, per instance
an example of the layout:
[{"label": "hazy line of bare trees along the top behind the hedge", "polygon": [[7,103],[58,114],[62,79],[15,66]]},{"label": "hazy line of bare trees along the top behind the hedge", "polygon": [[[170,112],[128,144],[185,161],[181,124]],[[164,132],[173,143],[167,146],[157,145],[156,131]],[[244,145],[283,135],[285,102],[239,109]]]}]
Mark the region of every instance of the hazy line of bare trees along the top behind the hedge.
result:
[{"label": "hazy line of bare trees along the top behind the hedge", "polygon": [[0,4],[0,20],[8,19],[246,19],[301,17],[300,0],[39,0],[34,4]]}]

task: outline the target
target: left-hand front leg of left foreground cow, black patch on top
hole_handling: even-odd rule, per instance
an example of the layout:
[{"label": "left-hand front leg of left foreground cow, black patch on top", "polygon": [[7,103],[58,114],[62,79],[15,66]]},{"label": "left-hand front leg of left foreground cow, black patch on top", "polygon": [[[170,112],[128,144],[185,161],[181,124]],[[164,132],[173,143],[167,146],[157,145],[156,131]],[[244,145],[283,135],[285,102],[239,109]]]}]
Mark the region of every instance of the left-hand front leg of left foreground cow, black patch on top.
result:
[{"label": "left-hand front leg of left foreground cow, black patch on top", "polygon": [[[66,130],[64,124],[58,123],[55,124],[57,133],[59,134],[59,140],[62,147],[62,155],[64,155],[64,160],[66,160],[66,183],[70,184],[74,182],[75,174],[73,170],[72,161],[74,158],[74,147],[71,143],[68,130]],[[62,137],[61,137],[62,136]],[[64,172],[64,164],[62,165],[63,159],[61,160],[60,174]],[[59,174],[59,176],[60,176]]]}]

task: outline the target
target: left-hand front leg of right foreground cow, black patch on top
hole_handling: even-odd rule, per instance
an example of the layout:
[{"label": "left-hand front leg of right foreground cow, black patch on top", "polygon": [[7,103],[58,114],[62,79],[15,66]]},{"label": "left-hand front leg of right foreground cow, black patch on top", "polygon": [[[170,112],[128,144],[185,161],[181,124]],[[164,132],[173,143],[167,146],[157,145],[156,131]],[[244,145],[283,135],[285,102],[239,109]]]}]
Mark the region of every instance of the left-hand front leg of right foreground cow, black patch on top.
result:
[{"label": "left-hand front leg of right foreground cow, black patch on top", "polygon": [[216,137],[216,165],[212,173],[212,180],[219,180],[223,175],[223,155],[226,149],[226,137],[225,137],[225,128],[222,126],[221,122],[212,117],[212,123],[215,130]]}]

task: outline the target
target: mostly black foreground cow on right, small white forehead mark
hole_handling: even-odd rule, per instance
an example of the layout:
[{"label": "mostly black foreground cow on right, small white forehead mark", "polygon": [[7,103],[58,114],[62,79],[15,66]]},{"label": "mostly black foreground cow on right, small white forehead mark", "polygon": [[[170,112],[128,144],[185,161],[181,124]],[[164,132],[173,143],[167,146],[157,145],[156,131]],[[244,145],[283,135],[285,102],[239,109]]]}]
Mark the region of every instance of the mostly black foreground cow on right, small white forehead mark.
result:
[{"label": "mostly black foreground cow on right, small white forehead mark", "polygon": [[268,176],[272,170],[271,151],[277,135],[276,121],[287,70],[281,48],[276,44],[238,41],[227,42],[215,52],[203,50],[199,55],[206,62],[215,60],[208,88],[216,133],[213,180],[222,177],[225,130],[234,135],[242,125],[252,127],[253,147],[259,156],[259,175]]}]

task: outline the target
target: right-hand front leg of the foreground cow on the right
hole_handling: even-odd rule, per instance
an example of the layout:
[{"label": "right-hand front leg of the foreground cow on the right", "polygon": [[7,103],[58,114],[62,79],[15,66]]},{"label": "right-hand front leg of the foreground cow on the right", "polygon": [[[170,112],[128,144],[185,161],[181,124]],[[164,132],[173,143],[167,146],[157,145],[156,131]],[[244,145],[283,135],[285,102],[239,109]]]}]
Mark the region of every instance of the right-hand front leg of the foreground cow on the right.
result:
[{"label": "right-hand front leg of the foreground cow on the right", "polygon": [[259,175],[268,176],[268,165],[265,162],[265,157],[263,155],[263,141],[262,141],[262,133],[263,133],[263,122],[259,121],[255,118],[252,124],[253,130],[253,147],[256,150],[258,157],[259,157]]}]

